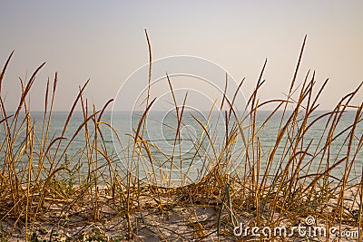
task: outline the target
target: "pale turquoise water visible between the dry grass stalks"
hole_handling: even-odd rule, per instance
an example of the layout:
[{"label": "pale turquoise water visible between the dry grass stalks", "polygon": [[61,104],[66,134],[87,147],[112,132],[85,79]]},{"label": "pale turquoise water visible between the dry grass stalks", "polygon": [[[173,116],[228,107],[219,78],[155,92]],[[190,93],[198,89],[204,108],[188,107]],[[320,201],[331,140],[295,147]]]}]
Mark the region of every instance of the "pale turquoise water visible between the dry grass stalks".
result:
[{"label": "pale turquoise water visible between the dry grass stalks", "polygon": [[[315,117],[318,117],[322,112],[316,111],[314,113]],[[152,111],[148,115],[148,120],[144,126],[143,131],[143,139],[148,141],[149,148],[152,152],[152,157],[154,158],[153,162],[158,164],[159,167],[169,167],[168,162],[170,163],[170,158],[172,157],[172,154],[174,154],[175,160],[182,160],[179,165],[175,168],[175,170],[180,170],[181,168],[188,169],[193,163],[194,167],[191,170],[184,170],[183,172],[188,172],[189,176],[191,178],[201,176],[203,175],[201,173],[202,166],[206,166],[206,160],[212,159],[213,153],[218,153],[221,151],[223,147],[224,142],[224,133],[225,133],[225,127],[226,124],[224,122],[224,113],[223,115],[219,113],[213,113],[210,118],[208,118],[208,112],[202,112],[202,111],[185,111],[182,118],[182,123],[180,124],[180,133],[176,133],[176,127],[178,126],[177,119],[175,117],[175,112],[162,112],[162,111]],[[288,113],[289,114],[289,113]],[[63,131],[64,128],[64,122],[66,120],[66,117],[68,115],[68,112],[65,111],[54,111],[52,115],[52,121],[50,125],[50,136],[51,137],[59,137]],[[261,123],[265,121],[265,119],[270,115],[270,111],[260,111],[258,113],[257,117],[257,126],[260,127]],[[343,118],[338,124],[337,131],[335,131],[335,135],[338,134],[340,131],[344,131],[346,128],[348,128],[354,121],[356,113],[354,111],[348,111],[344,114]],[[43,126],[43,116],[44,112],[32,112],[32,118],[35,121],[35,135],[37,137],[41,137],[42,134],[42,126]],[[108,154],[113,154],[113,157],[115,158],[115,163],[120,164],[123,163],[124,160],[127,160],[126,158],[130,156],[130,152],[127,151],[127,144],[130,144],[130,142],[134,134],[134,131],[137,130],[138,127],[138,121],[140,120],[142,116],[141,112],[130,112],[130,111],[116,111],[111,112],[107,111],[103,115],[103,121],[107,121],[109,123],[112,123],[113,128],[115,131],[117,131],[119,138],[121,140],[122,145],[120,145],[120,142],[116,139],[116,136],[113,134],[113,132],[107,128],[105,124],[101,124],[101,128],[103,131],[103,140],[104,140],[104,149],[107,150]],[[201,128],[201,125],[195,121],[193,118],[197,118],[201,123],[206,124],[206,129],[210,133],[210,137],[208,137],[205,134],[205,131]],[[287,115],[289,116],[289,115]],[[360,117],[361,119],[362,117]],[[260,143],[261,143],[261,153],[263,156],[263,162],[261,164],[261,170],[264,169],[264,165],[266,163],[268,154],[271,150],[271,148],[275,145],[276,138],[278,136],[278,131],[280,127],[280,120],[281,120],[281,112],[278,112],[277,115],[273,116],[270,121],[267,123],[267,125],[264,126],[262,130],[259,132],[260,136]],[[311,141],[311,145],[309,147],[309,152],[314,153],[315,150],[317,150],[317,147],[319,145],[320,138],[326,137],[327,131],[324,134],[324,129],[327,124],[327,118],[321,119],[320,121],[316,122],[311,129],[306,133],[305,140],[304,140],[304,147],[306,147],[309,142]],[[70,121],[69,127],[64,133],[64,137],[70,140],[74,134],[74,131],[77,131],[79,125],[83,122],[83,113],[82,112],[75,112],[72,120]],[[229,129],[231,130],[233,123],[233,119],[231,119]],[[248,124],[248,121],[245,121],[245,125]],[[90,122],[90,130],[91,134],[93,134],[93,124]],[[133,129],[133,130],[132,130]],[[19,138],[25,136],[25,128],[22,128],[22,132],[19,135]],[[348,140],[346,140],[346,137],[348,136],[348,131],[345,131],[341,137],[334,140],[331,143],[331,149],[330,149],[330,164],[332,164],[335,160],[340,160],[347,154],[348,149]],[[357,130],[356,130],[356,136],[353,140],[353,149],[352,151],[357,149],[358,140],[360,139],[361,135],[363,134],[363,124],[362,121],[358,123]],[[1,140],[4,140],[4,126],[1,127]],[[248,136],[248,131],[245,131],[245,136]],[[177,137],[177,142],[174,143],[175,137]],[[201,138],[202,137],[202,138]],[[244,162],[244,153],[245,153],[245,146],[240,139],[240,136],[237,137],[238,140],[236,141],[233,153],[231,155],[231,160],[235,163],[235,167],[237,167],[240,162]],[[98,137],[100,139],[100,137]],[[284,139],[287,139],[287,136],[285,136]],[[21,140],[21,139],[19,139]],[[211,147],[211,142],[213,142],[213,148]],[[67,140],[64,140],[61,145],[61,150],[65,148],[65,144],[67,143]],[[281,142],[284,144],[284,142]],[[325,143],[325,140],[322,140],[322,143]],[[198,144],[198,145],[196,145]],[[67,153],[67,159],[77,160],[77,157],[84,156],[84,152],[86,152],[84,149],[85,147],[84,142],[84,130],[82,129],[77,137],[75,137],[74,141],[71,143],[71,145],[68,147],[66,153]],[[20,146],[19,146],[20,147]],[[54,153],[56,145],[53,146],[51,149],[51,154]],[[103,149],[102,147],[99,147],[100,149]],[[276,156],[275,156],[275,164],[272,166],[271,172],[273,173],[276,171],[276,169],[279,169],[279,162],[277,162],[282,155],[283,146],[280,146],[277,150]],[[321,150],[322,146],[320,144],[320,148],[318,150]],[[213,150],[214,149],[214,150]],[[80,152],[80,150],[83,150]],[[61,152],[58,152],[58,156]],[[119,154],[119,159],[117,159],[116,153]],[[197,155],[196,155],[197,154]],[[353,154],[351,152],[351,154]],[[0,153],[1,160],[4,160],[4,152]],[[144,153],[145,157],[147,156],[146,153]],[[206,159],[208,158],[208,159]],[[321,158],[321,152],[320,154],[314,159],[310,173],[316,172],[319,160]],[[60,158],[61,162],[64,160],[65,157]],[[145,158],[143,158],[145,160]],[[82,159],[81,159],[82,160]],[[311,157],[306,157],[306,162],[311,160]],[[26,161],[26,157],[24,158],[24,161]],[[142,159],[139,162],[143,162]],[[105,160],[103,160],[105,162]],[[325,165],[327,162],[327,158],[323,159],[323,164]],[[1,163],[1,161],[0,161]],[[147,162],[145,161],[144,164],[142,164],[142,167],[144,170],[152,169],[152,167],[145,164]],[[176,162],[178,163],[178,162]],[[355,159],[355,163],[352,167],[352,176],[359,176],[361,174],[362,169],[362,163],[363,163],[363,152],[360,151],[358,156]],[[36,165],[36,158],[35,158],[35,164]],[[208,165],[208,164],[207,164]],[[182,167],[184,166],[184,167]],[[332,175],[341,177],[341,174],[344,173],[344,166],[345,162],[342,163],[342,165],[338,166],[337,169],[334,169],[332,172]],[[86,167],[86,166],[83,166]],[[122,166],[117,166],[118,168],[122,168]],[[307,169],[307,168],[305,168]],[[120,169],[122,170],[122,169]],[[146,171],[140,171],[144,176],[148,176]],[[121,172],[121,171],[120,171]],[[146,173],[145,173],[146,172]],[[305,172],[302,170],[301,172]],[[354,173],[357,172],[357,173]],[[162,172],[161,172],[162,173]],[[161,174],[162,176],[162,174]],[[182,175],[181,175],[182,176]],[[175,178],[175,179],[181,179],[181,177]]]}]

